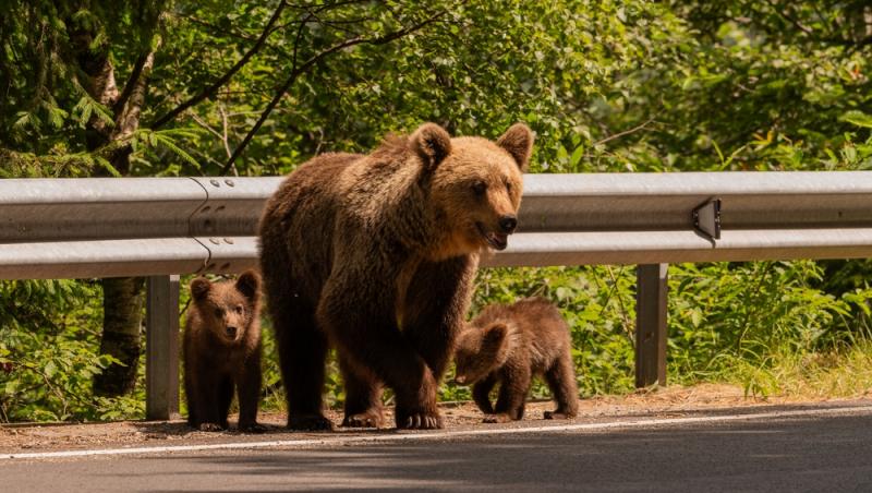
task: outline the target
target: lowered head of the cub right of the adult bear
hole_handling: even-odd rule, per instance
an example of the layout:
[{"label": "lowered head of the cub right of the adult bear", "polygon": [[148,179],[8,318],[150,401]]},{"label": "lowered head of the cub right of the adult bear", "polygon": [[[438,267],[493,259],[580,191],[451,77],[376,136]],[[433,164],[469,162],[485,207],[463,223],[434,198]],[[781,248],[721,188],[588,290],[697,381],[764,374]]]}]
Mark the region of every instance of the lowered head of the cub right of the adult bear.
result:
[{"label": "lowered head of the cub right of the adult bear", "polygon": [[501,368],[517,345],[518,330],[511,323],[493,322],[484,327],[468,325],[458,337],[455,351],[455,382],[471,385]]}]

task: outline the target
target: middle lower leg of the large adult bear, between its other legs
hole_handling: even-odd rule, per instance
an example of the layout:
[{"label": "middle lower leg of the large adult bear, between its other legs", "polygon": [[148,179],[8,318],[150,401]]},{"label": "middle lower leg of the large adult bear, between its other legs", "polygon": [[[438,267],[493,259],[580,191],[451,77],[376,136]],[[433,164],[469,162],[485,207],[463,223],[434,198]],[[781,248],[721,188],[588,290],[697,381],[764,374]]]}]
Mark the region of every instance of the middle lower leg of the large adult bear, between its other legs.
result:
[{"label": "middle lower leg of the large adult bear, between its other legs", "polygon": [[346,387],[346,418],[342,426],[382,428],[382,383],[371,372],[354,368],[341,354],[339,369]]}]

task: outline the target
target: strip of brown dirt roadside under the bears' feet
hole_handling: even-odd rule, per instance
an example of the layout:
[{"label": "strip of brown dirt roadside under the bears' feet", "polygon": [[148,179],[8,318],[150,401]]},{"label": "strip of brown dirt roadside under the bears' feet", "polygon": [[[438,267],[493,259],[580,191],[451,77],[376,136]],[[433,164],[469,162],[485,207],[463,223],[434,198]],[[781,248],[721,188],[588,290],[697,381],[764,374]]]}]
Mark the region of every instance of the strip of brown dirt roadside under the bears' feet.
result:
[{"label": "strip of brown dirt roadside under the bears' feet", "polygon": [[[821,402],[823,399],[818,400]],[[796,405],[806,400],[768,397],[765,400],[746,397],[742,389],[729,385],[697,385],[692,387],[670,386],[656,390],[640,390],[627,396],[603,396],[580,400],[579,417],[573,421],[584,422],[606,418],[655,416],[681,417],[699,411],[739,408],[750,406]],[[549,401],[533,401],[526,407],[524,422],[542,422],[543,412],[553,409]],[[496,426],[482,423],[482,413],[472,402],[446,402],[441,405],[447,429]],[[392,425],[391,409],[386,409],[386,422]],[[329,411],[335,423],[341,422],[341,412]],[[227,441],[269,441],[303,438],[312,433],[291,433],[283,428],[282,413],[261,413],[258,421],[267,426],[262,434],[240,434],[231,418],[231,430],[227,432],[193,431],[181,420],[146,422],[122,421],[109,423],[58,423],[58,424],[5,424],[0,425],[0,453],[49,452],[94,447],[138,447],[156,445],[192,445]],[[567,422],[567,421],[564,421]],[[520,425],[523,423],[517,423]],[[355,430],[337,428],[336,433],[355,433]],[[320,435],[323,436],[323,435]]]}]

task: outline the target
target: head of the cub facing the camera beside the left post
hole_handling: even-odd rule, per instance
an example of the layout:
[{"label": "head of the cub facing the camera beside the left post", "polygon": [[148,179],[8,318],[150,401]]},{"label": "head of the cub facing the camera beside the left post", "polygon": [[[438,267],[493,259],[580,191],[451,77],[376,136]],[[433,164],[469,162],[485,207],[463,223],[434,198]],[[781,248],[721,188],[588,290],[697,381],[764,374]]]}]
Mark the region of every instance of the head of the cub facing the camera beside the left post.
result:
[{"label": "head of the cub facing the camera beside the left post", "polygon": [[235,281],[211,282],[205,277],[191,281],[191,299],[204,325],[217,340],[238,344],[256,321],[261,278],[246,270]]}]

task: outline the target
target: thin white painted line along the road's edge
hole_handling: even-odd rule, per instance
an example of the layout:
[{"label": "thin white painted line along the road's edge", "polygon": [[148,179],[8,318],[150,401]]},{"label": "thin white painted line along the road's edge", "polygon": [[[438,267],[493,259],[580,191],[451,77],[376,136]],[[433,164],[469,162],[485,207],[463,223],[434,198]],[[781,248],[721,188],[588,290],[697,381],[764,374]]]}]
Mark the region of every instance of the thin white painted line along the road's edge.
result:
[{"label": "thin white painted line along the road's edge", "polygon": [[313,446],[313,445],[349,445],[349,444],[361,444],[361,443],[407,442],[407,441],[432,440],[432,438],[444,440],[444,438],[452,438],[460,436],[615,430],[615,429],[632,429],[632,428],[645,428],[645,426],[663,426],[671,424],[716,423],[725,421],[742,421],[742,420],[754,420],[764,418],[778,419],[778,418],[797,418],[806,416],[831,416],[831,414],[850,414],[850,413],[872,413],[872,406],[855,406],[855,407],[826,408],[826,409],[801,409],[794,411],[755,412],[749,414],[701,416],[692,418],[638,419],[628,421],[611,421],[605,423],[580,423],[580,424],[564,424],[554,426],[531,426],[531,428],[514,428],[514,429],[500,428],[493,430],[461,430],[461,431],[441,431],[441,432],[424,432],[424,433],[398,433],[398,434],[386,434],[386,435],[366,435],[366,436],[348,436],[348,437],[337,436],[334,434],[334,435],[327,435],[324,438],[276,440],[269,442],[237,442],[237,443],[203,444],[203,445],[172,445],[162,447],[109,448],[109,449],[96,449],[96,450],[36,452],[36,453],[22,453],[22,454],[0,453],[0,460],[48,459],[48,458],[59,458],[59,457],[88,457],[98,455],[159,454],[159,453],[173,453],[173,452],[227,450],[227,449],[293,447],[293,446]]}]

